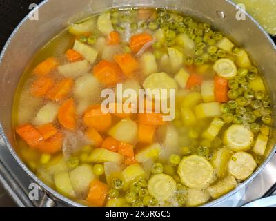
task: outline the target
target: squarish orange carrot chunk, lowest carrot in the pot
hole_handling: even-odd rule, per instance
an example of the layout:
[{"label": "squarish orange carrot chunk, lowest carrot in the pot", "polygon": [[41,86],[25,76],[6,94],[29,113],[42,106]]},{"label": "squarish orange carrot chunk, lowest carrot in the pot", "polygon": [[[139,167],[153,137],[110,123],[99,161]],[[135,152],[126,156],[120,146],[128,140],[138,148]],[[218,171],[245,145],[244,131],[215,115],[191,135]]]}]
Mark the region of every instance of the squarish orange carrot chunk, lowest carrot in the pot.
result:
[{"label": "squarish orange carrot chunk, lowest carrot in the pot", "polygon": [[97,179],[92,180],[86,200],[95,206],[104,206],[107,196],[108,186]]}]

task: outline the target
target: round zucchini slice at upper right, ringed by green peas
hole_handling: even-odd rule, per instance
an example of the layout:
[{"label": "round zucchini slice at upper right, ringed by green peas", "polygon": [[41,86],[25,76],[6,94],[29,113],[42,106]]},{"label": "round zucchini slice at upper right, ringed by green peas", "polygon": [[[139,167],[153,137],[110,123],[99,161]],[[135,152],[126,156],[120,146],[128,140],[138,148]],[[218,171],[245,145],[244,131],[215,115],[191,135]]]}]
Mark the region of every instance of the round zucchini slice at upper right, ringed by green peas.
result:
[{"label": "round zucchini slice at upper right, ringed by green peas", "polygon": [[237,75],[237,67],[235,66],[235,63],[228,58],[217,60],[213,68],[219,77],[224,77],[228,80],[233,79]]}]

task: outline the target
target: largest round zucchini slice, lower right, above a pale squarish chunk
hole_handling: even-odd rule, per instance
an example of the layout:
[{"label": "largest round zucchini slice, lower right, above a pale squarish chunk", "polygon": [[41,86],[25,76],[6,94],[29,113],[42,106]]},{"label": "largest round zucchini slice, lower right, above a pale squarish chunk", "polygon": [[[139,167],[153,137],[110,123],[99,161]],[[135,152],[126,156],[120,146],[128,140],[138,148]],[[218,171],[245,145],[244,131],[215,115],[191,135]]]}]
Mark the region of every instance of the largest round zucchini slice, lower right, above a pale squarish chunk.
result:
[{"label": "largest round zucchini slice, lower right, above a pale squarish chunk", "polygon": [[190,155],[182,159],[177,173],[184,185],[204,189],[213,181],[213,171],[212,164],[204,157]]}]

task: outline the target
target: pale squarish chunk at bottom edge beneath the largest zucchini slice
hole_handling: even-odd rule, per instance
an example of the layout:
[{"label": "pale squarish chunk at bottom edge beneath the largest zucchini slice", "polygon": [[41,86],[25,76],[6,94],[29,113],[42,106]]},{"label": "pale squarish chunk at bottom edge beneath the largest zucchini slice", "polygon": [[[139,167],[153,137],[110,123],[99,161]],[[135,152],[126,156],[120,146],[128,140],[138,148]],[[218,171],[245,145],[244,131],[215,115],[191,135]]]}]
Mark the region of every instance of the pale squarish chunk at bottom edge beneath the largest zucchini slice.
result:
[{"label": "pale squarish chunk at bottom edge beneath the largest zucchini slice", "polygon": [[186,206],[200,206],[210,199],[210,194],[206,190],[188,189]]}]

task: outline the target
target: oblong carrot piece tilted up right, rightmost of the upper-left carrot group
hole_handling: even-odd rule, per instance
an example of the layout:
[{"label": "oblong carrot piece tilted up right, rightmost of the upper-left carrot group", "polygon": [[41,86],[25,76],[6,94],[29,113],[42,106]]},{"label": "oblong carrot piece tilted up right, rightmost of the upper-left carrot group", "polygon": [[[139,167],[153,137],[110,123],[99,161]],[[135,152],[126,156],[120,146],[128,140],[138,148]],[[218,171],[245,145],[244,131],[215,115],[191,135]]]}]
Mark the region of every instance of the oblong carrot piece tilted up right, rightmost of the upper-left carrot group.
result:
[{"label": "oblong carrot piece tilted up right, rightmost of the upper-left carrot group", "polygon": [[59,102],[61,99],[66,99],[72,90],[73,84],[74,80],[71,78],[66,78],[62,81],[59,81],[56,86],[48,91],[48,99],[52,99],[55,102]]}]

